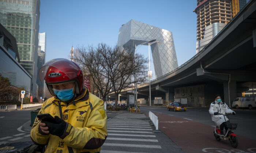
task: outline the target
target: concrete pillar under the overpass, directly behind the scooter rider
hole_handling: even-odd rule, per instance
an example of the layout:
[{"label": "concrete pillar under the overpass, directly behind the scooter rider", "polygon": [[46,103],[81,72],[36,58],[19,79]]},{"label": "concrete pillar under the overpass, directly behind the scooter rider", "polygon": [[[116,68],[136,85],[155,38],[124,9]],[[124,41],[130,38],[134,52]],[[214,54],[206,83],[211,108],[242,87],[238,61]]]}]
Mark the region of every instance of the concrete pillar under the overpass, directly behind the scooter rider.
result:
[{"label": "concrete pillar under the overpass, directly behind the scooter rider", "polygon": [[[223,91],[224,91],[224,102],[231,107],[232,101],[237,97],[237,82],[230,81],[229,83],[229,91],[228,91],[228,82],[223,82]],[[229,102],[230,95],[230,102]]]}]

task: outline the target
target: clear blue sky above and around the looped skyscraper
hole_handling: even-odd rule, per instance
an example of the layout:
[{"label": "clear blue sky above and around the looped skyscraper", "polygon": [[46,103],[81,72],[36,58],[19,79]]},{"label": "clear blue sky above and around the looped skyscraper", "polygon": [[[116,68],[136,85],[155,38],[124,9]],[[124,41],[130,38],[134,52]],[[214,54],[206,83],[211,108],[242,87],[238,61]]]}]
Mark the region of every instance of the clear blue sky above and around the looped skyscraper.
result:
[{"label": "clear blue sky above and around the looped skyscraper", "polygon": [[[46,32],[46,61],[69,58],[72,41],[74,48],[115,46],[121,25],[133,19],[171,31],[180,66],[196,54],[195,8],[196,0],[41,0],[39,32]],[[147,46],[138,52],[148,58]]]}]

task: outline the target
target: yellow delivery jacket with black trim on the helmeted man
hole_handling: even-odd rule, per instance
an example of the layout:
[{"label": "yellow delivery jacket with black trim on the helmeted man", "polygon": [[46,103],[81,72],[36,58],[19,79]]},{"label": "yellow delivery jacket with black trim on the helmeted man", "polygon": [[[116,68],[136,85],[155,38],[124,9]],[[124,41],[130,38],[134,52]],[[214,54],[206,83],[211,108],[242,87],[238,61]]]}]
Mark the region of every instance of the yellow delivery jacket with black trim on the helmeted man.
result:
[{"label": "yellow delivery jacket with black trim on the helmeted man", "polygon": [[68,106],[56,97],[47,99],[38,114],[45,113],[57,115],[68,123],[60,137],[42,135],[38,131],[39,120],[35,118],[30,137],[35,144],[47,145],[46,153],[100,152],[108,136],[104,102],[86,88]]}]

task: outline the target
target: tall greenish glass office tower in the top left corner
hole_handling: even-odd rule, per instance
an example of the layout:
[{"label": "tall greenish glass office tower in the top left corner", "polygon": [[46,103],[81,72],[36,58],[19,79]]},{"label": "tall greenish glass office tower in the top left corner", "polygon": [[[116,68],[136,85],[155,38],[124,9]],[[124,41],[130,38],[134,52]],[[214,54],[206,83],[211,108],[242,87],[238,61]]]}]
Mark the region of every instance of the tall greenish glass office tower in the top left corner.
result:
[{"label": "tall greenish glass office tower in the top left corner", "polygon": [[30,94],[37,95],[37,48],[40,0],[1,0],[0,23],[16,38],[20,64],[32,76]]}]

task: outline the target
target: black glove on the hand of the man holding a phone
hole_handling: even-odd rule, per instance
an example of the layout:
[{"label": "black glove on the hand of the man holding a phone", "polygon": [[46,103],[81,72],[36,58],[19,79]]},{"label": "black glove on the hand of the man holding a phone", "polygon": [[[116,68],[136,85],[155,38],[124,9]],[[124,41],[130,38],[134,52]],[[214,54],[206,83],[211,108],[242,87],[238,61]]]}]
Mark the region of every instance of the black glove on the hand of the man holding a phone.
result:
[{"label": "black glove on the hand of the man holding a phone", "polygon": [[65,122],[63,119],[60,119],[58,116],[54,117],[56,123],[48,122],[48,121],[42,121],[42,123],[45,123],[46,126],[49,127],[49,133],[55,136],[62,136],[66,126],[67,122]]}]

